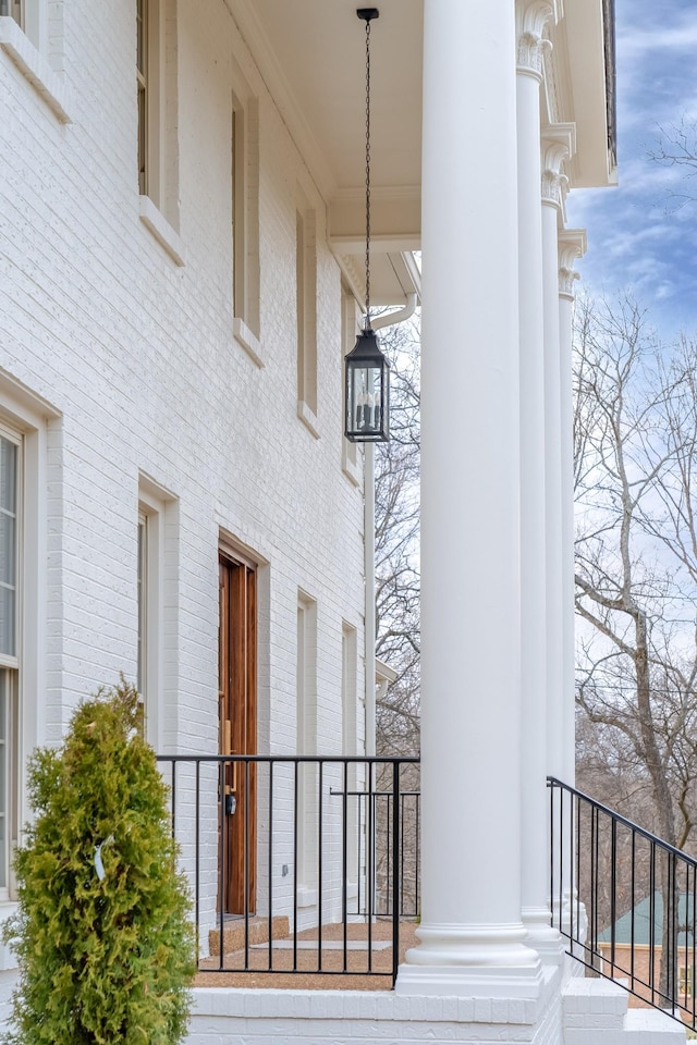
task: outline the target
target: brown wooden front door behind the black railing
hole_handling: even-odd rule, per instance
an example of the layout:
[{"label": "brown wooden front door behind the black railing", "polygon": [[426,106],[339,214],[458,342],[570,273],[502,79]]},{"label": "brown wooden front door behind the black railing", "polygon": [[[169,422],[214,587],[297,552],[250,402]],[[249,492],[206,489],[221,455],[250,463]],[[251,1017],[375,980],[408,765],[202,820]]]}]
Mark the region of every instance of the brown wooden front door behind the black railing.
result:
[{"label": "brown wooden front door behind the black railing", "polygon": [[[257,752],[256,571],[220,555],[220,753]],[[220,902],[227,914],[255,909],[256,766],[225,765],[220,810]]]}]

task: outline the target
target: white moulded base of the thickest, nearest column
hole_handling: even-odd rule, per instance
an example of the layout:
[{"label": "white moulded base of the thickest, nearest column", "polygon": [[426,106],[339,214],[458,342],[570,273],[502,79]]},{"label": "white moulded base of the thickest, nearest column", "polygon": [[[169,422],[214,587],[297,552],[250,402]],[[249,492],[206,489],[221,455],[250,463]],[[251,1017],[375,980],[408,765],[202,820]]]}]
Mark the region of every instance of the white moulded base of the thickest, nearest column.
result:
[{"label": "white moulded base of the thickest, nearest column", "polygon": [[419,946],[406,952],[394,991],[402,995],[534,1000],[542,967],[522,941],[522,924],[420,925]]}]

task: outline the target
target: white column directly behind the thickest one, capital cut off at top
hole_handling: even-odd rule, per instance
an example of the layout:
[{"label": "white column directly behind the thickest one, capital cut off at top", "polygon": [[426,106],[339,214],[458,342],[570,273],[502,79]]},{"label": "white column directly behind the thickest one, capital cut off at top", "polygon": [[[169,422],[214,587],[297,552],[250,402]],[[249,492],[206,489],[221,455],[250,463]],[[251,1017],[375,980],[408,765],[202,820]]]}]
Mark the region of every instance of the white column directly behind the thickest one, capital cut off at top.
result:
[{"label": "white column directly behind the thickest one, capital cut off at top", "polygon": [[545,322],[540,198],[542,38],[551,4],[517,9],[518,269],[521,344],[522,914],[527,943],[561,956],[550,926],[547,795],[547,505],[545,501]]}]

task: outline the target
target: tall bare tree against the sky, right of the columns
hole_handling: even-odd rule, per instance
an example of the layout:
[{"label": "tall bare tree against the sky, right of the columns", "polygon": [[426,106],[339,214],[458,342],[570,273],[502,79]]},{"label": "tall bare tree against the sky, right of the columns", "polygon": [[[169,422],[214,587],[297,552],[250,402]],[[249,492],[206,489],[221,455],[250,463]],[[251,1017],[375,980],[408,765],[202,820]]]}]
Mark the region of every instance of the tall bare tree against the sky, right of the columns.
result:
[{"label": "tall bare tree against the sky, right of the columns", "polygon": [[697,791],[696,372],[695,346],[659,346],[629,298],[579,303],[579,722],[602,750],[596,779],[621,783],[611,804],[681,848]]}]

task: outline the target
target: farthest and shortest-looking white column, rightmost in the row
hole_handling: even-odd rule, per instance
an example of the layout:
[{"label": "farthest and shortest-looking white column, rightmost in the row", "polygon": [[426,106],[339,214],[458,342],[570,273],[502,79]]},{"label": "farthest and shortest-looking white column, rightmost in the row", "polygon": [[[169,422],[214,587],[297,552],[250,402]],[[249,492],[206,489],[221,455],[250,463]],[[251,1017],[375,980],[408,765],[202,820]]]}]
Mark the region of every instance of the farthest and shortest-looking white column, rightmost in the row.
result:
[{"label": "farthest and shortest-looking white column, rightmost in the row", "polygon": [[573,396],[573,308],[576,258],[586,253],[586,233],[568,229],[559,236],[559,346],[561,370],[562,451],[562,779],[573,786],[576,771],[576,650],[574,612],[574,396]]}]

